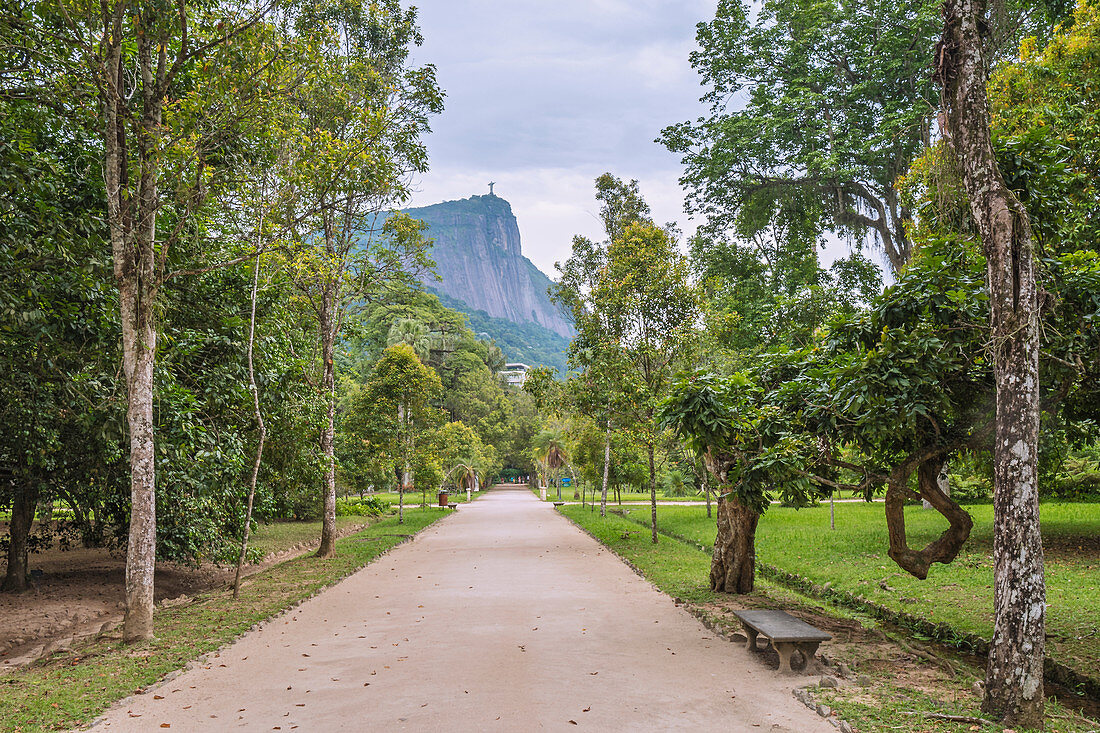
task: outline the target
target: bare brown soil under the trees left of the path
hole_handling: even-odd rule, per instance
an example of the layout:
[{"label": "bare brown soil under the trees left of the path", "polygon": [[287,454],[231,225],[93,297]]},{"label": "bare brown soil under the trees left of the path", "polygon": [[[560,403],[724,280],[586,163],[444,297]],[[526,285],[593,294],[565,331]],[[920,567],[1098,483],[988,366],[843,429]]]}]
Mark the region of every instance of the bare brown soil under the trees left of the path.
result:
[{"label": "bare brown soil under the trees left of the path", "polygon": [[[341,536],[366,526],[340,527]],[[0,535],[8,532],[0,522]],[[316,543],[279,547],[263,561],[249,566],[246,575],[257,572],[309,551]],[[7,557],[0,557],[0,577],[7,571]],[[105,548],[61,549],[56,546],[31,556],[29,567],[35,581],[22,593],[0,593],[0,669],[11,669],[36,660],[51,647],[64,646],[74,638],[109,631],[122,621],[125,556]],[[232,582],[233,568],[215,564],[197,567],[158,562],[156,603],[226,587]]]}]

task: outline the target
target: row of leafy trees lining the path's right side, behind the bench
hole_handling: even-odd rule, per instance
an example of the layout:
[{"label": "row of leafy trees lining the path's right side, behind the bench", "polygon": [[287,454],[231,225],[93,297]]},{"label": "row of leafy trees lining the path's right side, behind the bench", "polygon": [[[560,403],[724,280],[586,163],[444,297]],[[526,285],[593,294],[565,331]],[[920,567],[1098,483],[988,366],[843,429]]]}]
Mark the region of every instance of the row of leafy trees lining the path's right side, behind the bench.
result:
[{"label": "row of leafy trees lining the path's right side, behind the bench", "polygon": [[[692,56],[711,114],[661,136],[703,226],[684,258],[635,182],[602,176],[606,240],[575,238],[559,265],[573,373],[528,385],[605,496],[629,442],[651,499],[654,466],[705,464],[718,590],[751,590],[771,500],[837,490],[886,496],[889,555],[924,578],[971,527],[945,466],[990,467],[983,709],[1021,726],[1043,720],[1041,483],[1100,414],[1098,18],[1091,2],[719,2]],[[854,247],[826,271],[831,233]],[[948,523],[919,549],[916,497]]]}]

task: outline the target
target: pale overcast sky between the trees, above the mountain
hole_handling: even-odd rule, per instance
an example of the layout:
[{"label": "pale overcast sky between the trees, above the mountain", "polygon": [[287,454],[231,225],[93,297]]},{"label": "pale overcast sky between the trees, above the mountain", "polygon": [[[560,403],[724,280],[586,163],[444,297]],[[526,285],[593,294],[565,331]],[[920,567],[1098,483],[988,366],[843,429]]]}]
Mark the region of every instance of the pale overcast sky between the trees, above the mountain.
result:
[{"label": "pale overcast sky between the trees, above the mountain", "polygon": [[594,182],[637,178],[657,221],[683,214],[678,156],[653,140],[704,112],[688,55],[714,0],[414,0],[447,110],[413,206],[488,193],[551,277],[573,234],[602,239]]}]

